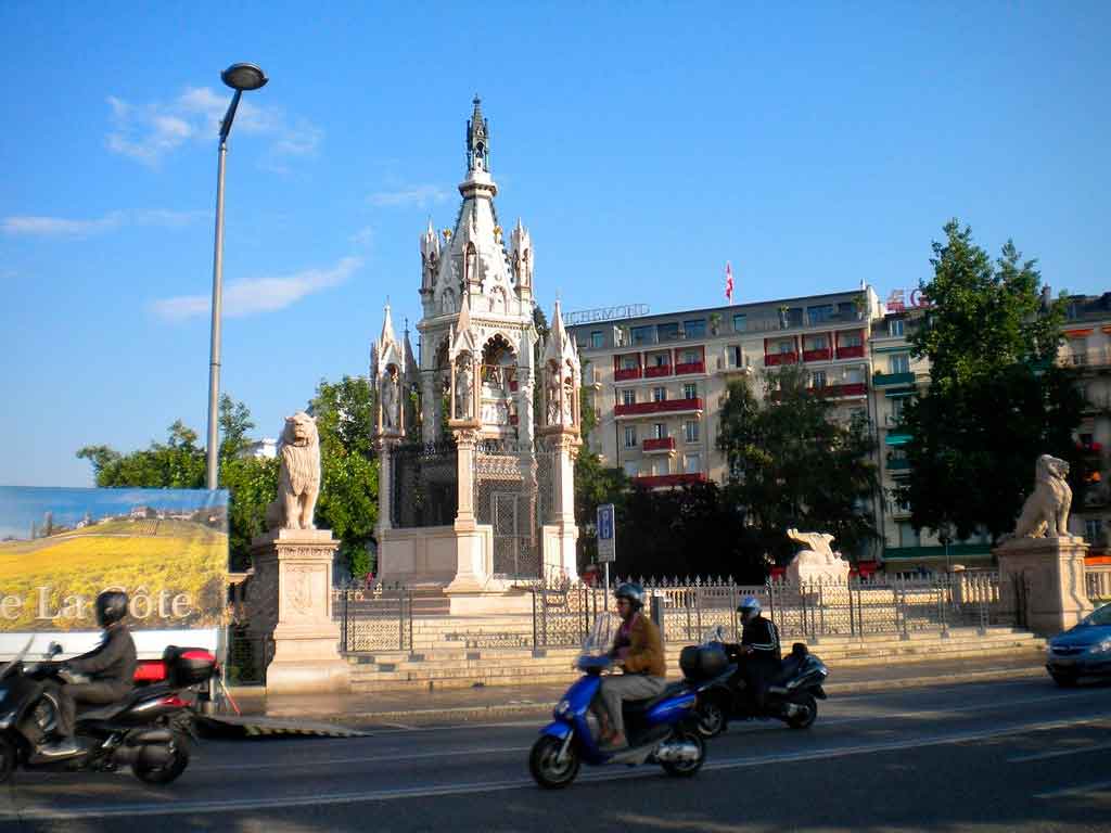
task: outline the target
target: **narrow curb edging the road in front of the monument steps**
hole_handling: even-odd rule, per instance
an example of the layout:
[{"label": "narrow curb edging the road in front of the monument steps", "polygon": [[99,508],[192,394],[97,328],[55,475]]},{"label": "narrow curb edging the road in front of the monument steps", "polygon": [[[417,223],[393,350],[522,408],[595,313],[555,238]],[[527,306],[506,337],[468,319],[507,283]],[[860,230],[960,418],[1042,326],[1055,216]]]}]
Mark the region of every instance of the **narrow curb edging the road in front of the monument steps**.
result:
[{"label": "narrow curb edging the road in front of the monument steps", "polygon": [[[1030,668],[987,669],[984,671],[967,671],[955,674],[933,674],[930,676],[907,676],[895,680],[861,680],[847,683],[829,683],[822,688],[830,694],[864,694],[877,691],[928,688],[937,685],[972,684],[997,680],[1025,680],[1045,676],[1041,665]],[[1048,678],[1047,678],[1048,679]],[[352,711],[343,714],[316,714],[304,712],[279,711],[268,716],[296,719],[312,716],[336,723],[446,723],[488,720],[513,715],[541,714],[556,707],[552,702],[526,703],[491,703],[489,705],[447,706],[440,709],[401,709],[394,711]]]}]

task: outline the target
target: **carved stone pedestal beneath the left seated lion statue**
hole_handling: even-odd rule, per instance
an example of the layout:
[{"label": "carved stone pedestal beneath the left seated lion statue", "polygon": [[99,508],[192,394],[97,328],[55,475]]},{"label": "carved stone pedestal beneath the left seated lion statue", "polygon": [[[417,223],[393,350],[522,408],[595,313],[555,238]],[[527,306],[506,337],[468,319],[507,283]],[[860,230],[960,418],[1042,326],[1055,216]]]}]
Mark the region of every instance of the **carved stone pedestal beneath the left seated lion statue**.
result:
[{"label": "carved stone pedestal beneath the left seated lion statue", "polygon": [[251,542],[249,631],[272,638],[274,645],[268,694],[351,688],[332,620],[332,556],[339,543],[330,530],[279,530]]}]

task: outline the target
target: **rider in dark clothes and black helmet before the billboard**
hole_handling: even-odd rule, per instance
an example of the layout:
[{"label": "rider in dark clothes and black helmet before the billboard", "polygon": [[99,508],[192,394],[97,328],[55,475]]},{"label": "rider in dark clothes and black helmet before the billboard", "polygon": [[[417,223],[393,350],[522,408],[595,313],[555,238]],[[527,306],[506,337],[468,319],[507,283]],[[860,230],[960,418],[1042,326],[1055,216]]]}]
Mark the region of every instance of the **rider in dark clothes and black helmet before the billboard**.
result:
[{"label": "rider in dark clothes and black helmet before the billboard", "polygon": [[73,732],[78,703],[108,705],[131,693],[136,673],[136,643],[123,623],[128,614],[128,594],[106,590],[97,596],[97,624],[103,629],[100,645],[89,653],[62,663],[62,669],[92,678],[88,683],[71,683],[58,689],[58,732],[60,740],[42,749],[49,756],[80,752]]}]

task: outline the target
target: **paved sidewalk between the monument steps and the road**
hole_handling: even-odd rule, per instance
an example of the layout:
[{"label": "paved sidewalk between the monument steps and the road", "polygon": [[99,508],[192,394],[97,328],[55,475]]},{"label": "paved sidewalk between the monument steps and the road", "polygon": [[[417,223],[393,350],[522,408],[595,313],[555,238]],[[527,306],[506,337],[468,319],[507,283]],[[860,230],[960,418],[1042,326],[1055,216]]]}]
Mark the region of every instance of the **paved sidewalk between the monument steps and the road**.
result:
[{"label": "paved sidewalk between the monument steps and the road", "polygon": [[[824,689],[831,697],[837,697],[891,689],[1030,678],[1042,678],[1047,684],[1052,684],[1038,654],[959,662],[877,663],[844,670],[833,666]],[[564,691],[565,684],[548,684],[267,697],[250,689],[236,689],[232,696],[244,715],[323,720],[349,726],[429,725],[543,714],[552,710]]]}]

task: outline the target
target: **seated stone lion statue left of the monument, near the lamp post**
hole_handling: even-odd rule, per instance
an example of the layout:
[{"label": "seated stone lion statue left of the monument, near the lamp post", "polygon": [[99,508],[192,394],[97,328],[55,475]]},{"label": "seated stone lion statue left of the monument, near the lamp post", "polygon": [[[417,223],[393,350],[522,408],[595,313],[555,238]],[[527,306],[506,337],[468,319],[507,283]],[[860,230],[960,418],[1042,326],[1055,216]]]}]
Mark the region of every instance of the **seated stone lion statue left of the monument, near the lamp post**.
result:
[{"label": "seated stone lion statue left of the monument, near the lamp post", "polygon": [[281,434],[278,496],[267,508],[268,530],[314,530],[312,515],[320,494],[320,435],[304,411],[286,418]]}]

